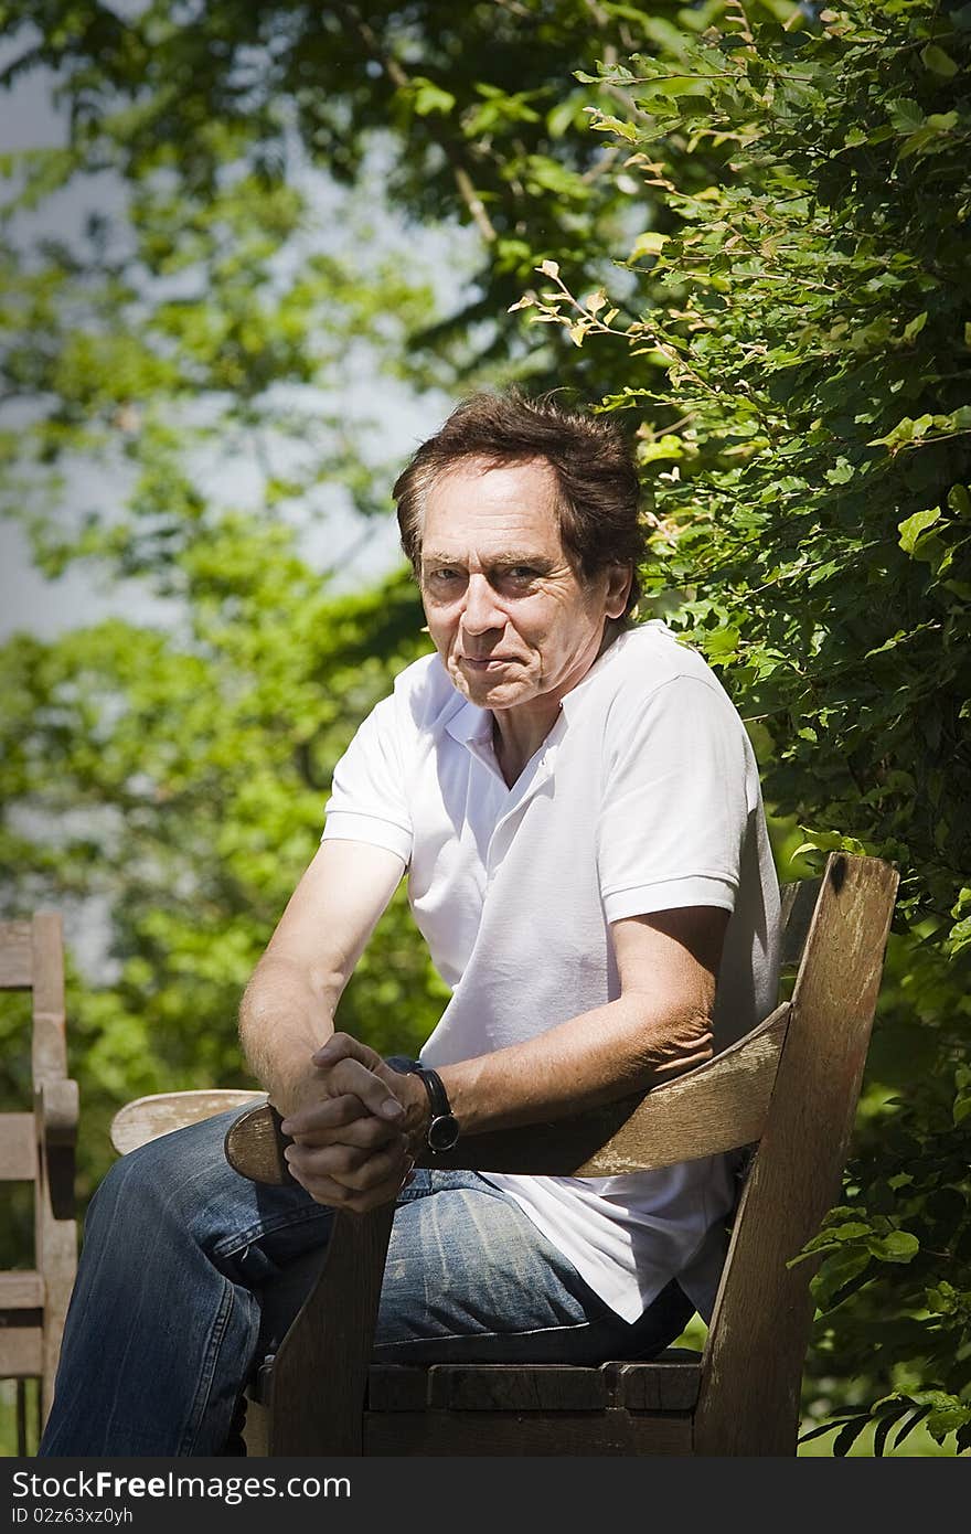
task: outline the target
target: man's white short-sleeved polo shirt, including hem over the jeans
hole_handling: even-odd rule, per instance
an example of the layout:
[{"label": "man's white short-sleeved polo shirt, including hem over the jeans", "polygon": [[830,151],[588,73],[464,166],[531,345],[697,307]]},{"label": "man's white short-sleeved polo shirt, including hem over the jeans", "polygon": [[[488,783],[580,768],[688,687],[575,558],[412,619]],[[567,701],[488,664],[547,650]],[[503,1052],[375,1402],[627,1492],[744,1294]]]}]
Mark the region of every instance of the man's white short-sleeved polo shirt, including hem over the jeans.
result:
[{"label": "man's white short-sleeved polo shirt, including hem over the jeans", "polygon": [[[462,698],[437,655],[408,666],[334,769],[327,838],[387,847],[408,868],[414,919],[453,988],[425,1065],[520,1043],[614,1000],[611,922],[650,911],[732,911],[716,1051],[776,1003],[779,891],[755,755],[713,672],[663,623],[604,650],[511,788],[492,713]],[[624,1319],[673,1276],[707,1318],[732,1164],[488,1180]]]}]

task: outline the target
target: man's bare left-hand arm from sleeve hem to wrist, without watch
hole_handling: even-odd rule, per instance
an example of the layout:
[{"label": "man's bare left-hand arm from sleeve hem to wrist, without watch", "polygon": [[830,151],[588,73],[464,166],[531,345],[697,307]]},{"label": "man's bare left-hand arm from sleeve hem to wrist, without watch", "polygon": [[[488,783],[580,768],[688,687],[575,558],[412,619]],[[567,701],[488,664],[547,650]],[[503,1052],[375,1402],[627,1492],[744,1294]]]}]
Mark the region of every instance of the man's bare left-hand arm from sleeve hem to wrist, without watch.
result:
[{"label": "man's bare left-hand arm from sleeve hem to wrist, without watch", "polygon": [[[334,1031],[334,1008],[402,873],[402,859],[383,847],[322,842],[253,971],[239,1039],[282,1114],[324,1095],[311,1057]],[[360,1092],[373,1112],[388,1097],[364,1071]]]}]

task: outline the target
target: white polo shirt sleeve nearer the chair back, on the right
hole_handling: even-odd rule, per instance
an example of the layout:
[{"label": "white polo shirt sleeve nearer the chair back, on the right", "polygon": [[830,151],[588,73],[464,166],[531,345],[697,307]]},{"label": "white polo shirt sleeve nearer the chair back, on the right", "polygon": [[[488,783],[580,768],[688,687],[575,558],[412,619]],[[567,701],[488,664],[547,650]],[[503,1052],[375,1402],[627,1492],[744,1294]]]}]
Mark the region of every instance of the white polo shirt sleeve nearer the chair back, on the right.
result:
[{"label": "white polo shirt sleeve nearer the chair back, on the right", "polygon": [[[620,703],[621,700],[618,700]],[[617,710],[604,742],[598,876],[609,922],[687,905],[732,911],[755,758],[730,700],[673,676]]]}]

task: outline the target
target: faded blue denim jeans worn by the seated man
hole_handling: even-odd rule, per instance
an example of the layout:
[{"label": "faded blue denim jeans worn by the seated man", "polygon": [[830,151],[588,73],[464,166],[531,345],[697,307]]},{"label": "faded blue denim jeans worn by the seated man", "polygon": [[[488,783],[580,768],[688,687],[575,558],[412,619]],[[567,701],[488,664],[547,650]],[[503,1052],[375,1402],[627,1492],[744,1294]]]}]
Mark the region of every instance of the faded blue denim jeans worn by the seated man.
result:
[{"label": "faded blue denim jeans worn by the seated man", "polygon": [[[299,1309],[307,1256],[319,1267],[333,1223],[304,1189],[232,1170],[235,1117],[150,1141],[101,1183],[40,1454],[232,1451],[242,1387]],[[476,1172],[419,1170],[397,1200],[374,1358],[649,1358],[692,1315],[672,1281],[627,1324],[508,1193]]]}]

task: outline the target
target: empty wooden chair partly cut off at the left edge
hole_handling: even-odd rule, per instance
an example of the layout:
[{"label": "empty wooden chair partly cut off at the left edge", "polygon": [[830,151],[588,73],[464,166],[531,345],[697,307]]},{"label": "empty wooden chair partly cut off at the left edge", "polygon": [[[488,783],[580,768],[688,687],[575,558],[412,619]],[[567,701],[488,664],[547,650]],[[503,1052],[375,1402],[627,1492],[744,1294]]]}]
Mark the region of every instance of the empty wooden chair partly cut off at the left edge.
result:
[{"label": "empty wooden chair partly cut off at the left edge", "polygon": [[0,1114],[0,1180],[34,1187],[34,1269],[0,1273],[0,1378],[17,1381],[17,1450],[28,1453],[25,1382],[40,1379],[38,1427],[54,1374],[77,1270],[74,1147],[78,1088],[67,1077],[61,919],[0,923],[0,989],[32,999],[31,1112]]}]

